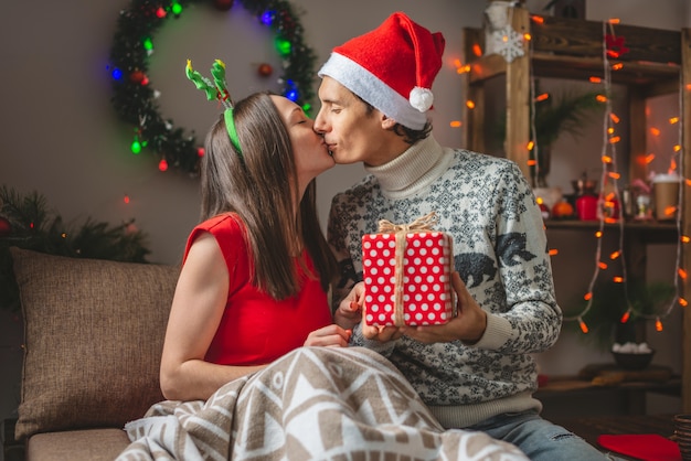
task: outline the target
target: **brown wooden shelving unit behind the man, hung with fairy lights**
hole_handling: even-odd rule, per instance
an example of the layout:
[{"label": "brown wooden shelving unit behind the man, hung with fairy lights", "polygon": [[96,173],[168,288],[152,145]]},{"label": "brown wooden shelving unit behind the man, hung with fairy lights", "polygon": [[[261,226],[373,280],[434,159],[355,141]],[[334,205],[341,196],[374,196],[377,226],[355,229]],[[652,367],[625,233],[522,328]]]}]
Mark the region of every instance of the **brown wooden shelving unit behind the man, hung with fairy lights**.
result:
[{"label": "brown wooden shelving unit behind the man, hung with fairy lights", "polygon": [[[519,34],[530,34],[530,52],[508,63],[503,56],[477,56],[485,50],[482,29],[464,29],[463,62],[470,71],[463,74],[464,95],[476,103],[475,108],[464,106],[464,130],[467,148],[486,151],[485,144],[485,83],[496,76],[506,79],[507,138],[504,152],[530,178],[528,142],[530,140],[530,78],[568,78],[587,81],[604,77],[603,23],[576,19],[541,17],[533,21],[522,6],[511,8],[511,25]],[[683,176],[691,179],[691,32],[667,31],[617,24],[617,34],[626,36],[628,51],[617,58],[624,63],[620,71],[612,72],[612,83],[626,85],[629,94],[629,181],[645,178],[646,156],[646,100],[653,96],[677,94],[681,97]],[[681,234],[691,235],[691,187],[683,189],[681,206]],[[555,228],[592,228],[582,222],[550,222]],[[645,250],[651,240],[676,242],[676,225],[626,223],[626,232],[634,235],[634,250]],[[671,238],[671,240],[669,240]],[[683,264],[691,266],[691,245],[684,245]],[[640,262],[640,260],[638,260]],[[638,269],[640,270],[640,269]],[[683,282],[682,296],[691,298],[691,279]],[[684,310],[683,322],[683,410],[691,411],[691,307]]]}]

